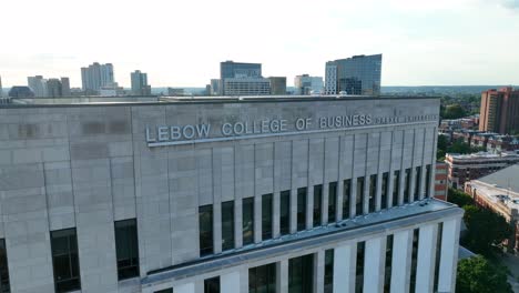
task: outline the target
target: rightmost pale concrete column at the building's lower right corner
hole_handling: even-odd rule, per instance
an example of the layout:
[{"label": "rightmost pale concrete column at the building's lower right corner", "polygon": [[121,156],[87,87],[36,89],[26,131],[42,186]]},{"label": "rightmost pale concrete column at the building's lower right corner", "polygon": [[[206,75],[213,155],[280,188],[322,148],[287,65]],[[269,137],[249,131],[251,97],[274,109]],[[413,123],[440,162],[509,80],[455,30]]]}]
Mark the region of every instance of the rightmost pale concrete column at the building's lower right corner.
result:
[{"label": "rightmost pale concrete column at the building's lower right corner", "polygon": [[458,264],[460,219],[444,222],[441,233],[441,256],[438,273],[438,292],[455,292]]}]

